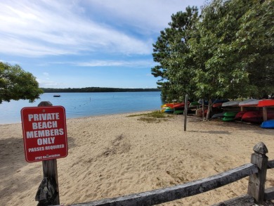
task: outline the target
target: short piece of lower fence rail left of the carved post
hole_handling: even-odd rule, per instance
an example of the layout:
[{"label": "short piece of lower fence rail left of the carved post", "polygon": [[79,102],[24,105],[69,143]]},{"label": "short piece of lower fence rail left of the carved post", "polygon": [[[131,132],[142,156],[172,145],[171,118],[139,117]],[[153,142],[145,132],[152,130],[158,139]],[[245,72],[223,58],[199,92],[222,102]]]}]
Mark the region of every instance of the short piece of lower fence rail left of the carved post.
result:
[{"label": "short piece of lower fence rail left of the carved post", "polygon": [[242,195],[237,198],[226,200],[224,202],[219,202],[211,206],[253,206],[254,198],[250,195]]}]

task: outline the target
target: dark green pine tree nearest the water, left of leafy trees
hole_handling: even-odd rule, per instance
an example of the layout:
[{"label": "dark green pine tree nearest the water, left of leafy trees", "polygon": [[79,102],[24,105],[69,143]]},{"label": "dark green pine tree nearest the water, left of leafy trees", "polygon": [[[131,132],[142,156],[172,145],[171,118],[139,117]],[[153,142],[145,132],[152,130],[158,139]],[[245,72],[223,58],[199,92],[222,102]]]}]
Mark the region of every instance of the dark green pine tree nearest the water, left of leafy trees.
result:
[{"label": "dark green pine tree nearest the water, left of leafy trees", "polygon": [[191,75],[188,72],[189,65],[187,58],[181,58],[181,53],[188,53],[187,42],[189,39],[190,28],[193,27],[198,18],[197,7],[185,9],[185,12],[179,11],[171,15],[169,28],[160,32],[155,44],[153,44],[152,56],[155,62],[159,63],[152,67],[152,75],[162,77],[157,84],[162,89],[162,96],[167,100],[174,98],[180,99],[183,94],[188,93],[192,84],[189,80]]}]

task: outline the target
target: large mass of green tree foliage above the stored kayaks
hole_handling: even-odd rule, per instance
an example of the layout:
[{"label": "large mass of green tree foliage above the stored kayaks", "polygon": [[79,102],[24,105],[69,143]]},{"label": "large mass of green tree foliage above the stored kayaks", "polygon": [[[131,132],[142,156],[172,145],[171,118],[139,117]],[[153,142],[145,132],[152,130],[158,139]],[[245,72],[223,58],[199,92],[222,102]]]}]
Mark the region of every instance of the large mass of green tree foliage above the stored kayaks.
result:
[{"label": "large mass of green tree foliage above the stored kayaks", "polygon": [[[263,98],[274,91],[274,1],[212,0],[171,16],[152,56],[169,100]],[[178,98],[177,98],[178,99]]]}]

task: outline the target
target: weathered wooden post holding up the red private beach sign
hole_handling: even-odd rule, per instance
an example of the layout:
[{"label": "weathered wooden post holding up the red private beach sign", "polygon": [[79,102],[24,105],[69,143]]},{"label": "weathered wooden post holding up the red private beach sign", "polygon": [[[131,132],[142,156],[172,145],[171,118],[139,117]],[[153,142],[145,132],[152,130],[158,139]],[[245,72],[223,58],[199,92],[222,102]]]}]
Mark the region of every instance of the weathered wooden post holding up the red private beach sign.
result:
[{"label": "weathered wooden post holding up the red private beach sign", "polygon": [[[39,105],[38,105],[38,107],[48,107],[48,106],[52,106],[52,103],[49,101],[41,101],[41,103],[39,103]],[[57,160],[56,159],[44,160],[44,161],[42,161],[42,165],[43,165],[44,179],[46,178],[47,180],[52,180],[54,182],[53,186],[55,188],[55,191],[57,192],[57,196],[51,205],[60,205]]]}]

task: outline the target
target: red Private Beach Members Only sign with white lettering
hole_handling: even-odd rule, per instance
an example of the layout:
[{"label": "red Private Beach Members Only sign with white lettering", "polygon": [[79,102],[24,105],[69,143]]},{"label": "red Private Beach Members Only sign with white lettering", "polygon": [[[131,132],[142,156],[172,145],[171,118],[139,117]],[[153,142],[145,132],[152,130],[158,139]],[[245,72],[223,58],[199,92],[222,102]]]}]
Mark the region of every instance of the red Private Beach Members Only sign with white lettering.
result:
[{"label": "red Private Beach Members Only sign with white lettering", "polygon": [[21,119],[27,162],[67,156],[65,108],[22,108]]}]

